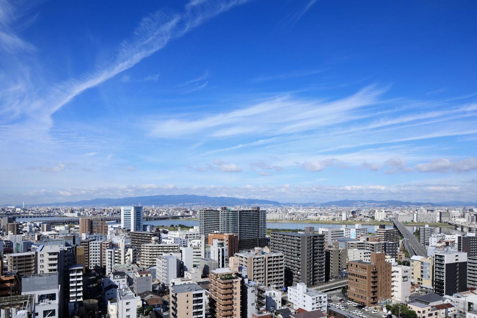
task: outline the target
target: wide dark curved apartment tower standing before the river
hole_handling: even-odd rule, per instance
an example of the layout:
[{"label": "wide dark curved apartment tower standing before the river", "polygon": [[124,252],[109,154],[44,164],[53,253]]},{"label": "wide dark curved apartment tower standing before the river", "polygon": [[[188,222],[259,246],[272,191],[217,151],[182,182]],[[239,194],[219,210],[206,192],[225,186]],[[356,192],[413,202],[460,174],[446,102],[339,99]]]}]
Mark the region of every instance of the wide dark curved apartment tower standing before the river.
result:
[{"label": "wide dark curved apartment tower standing before the river", "polygon": [[200,210],[199,231],[206,244],[210,233],[230,233],[239,235],[239,251],[253,250],[267,244],[267,211],[260,207],[232,210],[226,206],[220,210]]}]

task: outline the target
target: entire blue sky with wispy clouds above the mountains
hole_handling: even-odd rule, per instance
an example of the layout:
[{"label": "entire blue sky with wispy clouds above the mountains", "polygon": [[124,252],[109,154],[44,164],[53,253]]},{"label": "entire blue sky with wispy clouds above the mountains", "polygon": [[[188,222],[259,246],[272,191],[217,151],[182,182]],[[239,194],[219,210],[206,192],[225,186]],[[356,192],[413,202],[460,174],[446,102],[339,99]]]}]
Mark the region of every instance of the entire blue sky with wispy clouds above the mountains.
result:
[{"label": "entire blue sky with wispy clouds above the mountains", "polygon": [[0,204],[475,200],[476,9],[0,0]]}]

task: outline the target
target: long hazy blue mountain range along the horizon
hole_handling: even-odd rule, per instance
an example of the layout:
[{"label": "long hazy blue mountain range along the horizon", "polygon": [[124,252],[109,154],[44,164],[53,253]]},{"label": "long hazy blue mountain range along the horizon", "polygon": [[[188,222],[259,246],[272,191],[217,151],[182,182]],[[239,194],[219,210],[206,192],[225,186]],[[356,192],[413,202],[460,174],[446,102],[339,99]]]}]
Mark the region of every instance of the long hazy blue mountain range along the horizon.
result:
[{"label": "long hazy blue mountain range along the horizon", "polygon": [[[234,197],[209,197],[206,195],[194,195],[194,194],[180,194],[180,195],[150,195],[142,197],[128,197],[121,199],[93,199],[83,201],[70,201],[70,202],[54,202],[44,204],[30,204],[34,206],[121,206],[121,205],[202,205],[202,206],[233,206],[233,205],[301,205],[301,206],[360,206],[360,205],[375,205],[380,207],[385,206],[404,206],[404,205],[423,205],[423,206],[477,206],[477,202],[468,201],[444,201],[444,202],[409,202],[409,201],[396,201],[396,200],[339,200],[328,201],[323,203],[292,203],[292,202],[277,202],[270,200],[259,199],[239,199]],[[10,206],[11,204],[4,204]]]}]

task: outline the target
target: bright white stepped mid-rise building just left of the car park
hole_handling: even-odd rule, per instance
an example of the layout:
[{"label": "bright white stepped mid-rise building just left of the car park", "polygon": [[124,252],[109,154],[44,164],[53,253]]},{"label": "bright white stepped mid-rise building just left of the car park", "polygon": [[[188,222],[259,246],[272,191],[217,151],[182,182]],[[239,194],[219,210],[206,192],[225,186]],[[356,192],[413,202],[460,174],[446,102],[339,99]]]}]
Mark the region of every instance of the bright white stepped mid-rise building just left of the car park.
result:
[{"label": "bright white stepped mid-rise building just left of the car park", "polygon": [[303,308],[306,311],[321,310],[326,312],[326,294],[308,289],[305,283],[288,287],[288,301],[293,303],[293,309]]}]

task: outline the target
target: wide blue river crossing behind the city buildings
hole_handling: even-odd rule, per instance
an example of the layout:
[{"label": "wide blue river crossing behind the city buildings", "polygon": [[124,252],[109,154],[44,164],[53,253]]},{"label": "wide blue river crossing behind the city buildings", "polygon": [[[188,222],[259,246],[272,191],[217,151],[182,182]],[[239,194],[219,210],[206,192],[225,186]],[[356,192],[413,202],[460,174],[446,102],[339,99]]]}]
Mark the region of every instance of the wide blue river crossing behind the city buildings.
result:
[{"label": "wide blue river crossing behind the city buildings", "polygon": [[[41,220],[62,220],[65,217],[39,217],[39,218],[17,218],[20,222],[34,222],[34,221],[41,221]],[[108,222],[109,224],[115,224],[116,222]],[[162,226],[170,226],[171,224],[178,225],[184,224],[187,226],[197,226],[197,220],[187,220],[187,219],[180,219],[180,220],[151,220],[151,221],[144,221],[144,224],[151,224],[151,225],[162,225]],[[302,223],[302,222],[267,222],[267,228],[270,229],[292,229],[292,230],[300,230],[304,229],[305,226],[314,226],[315,231],[318,231],[319,227],[354,227],[353,224],[336,224],[336,223]],[[448,234],[462,234],[467,233],[467,228],[464,231],[460,229],[456,229],[455,227],[439,227],[439,226],[429,226],[436,228],[435,233],[448,233]],[[367,227],[369,233],[374,233],[379,225],[366,225],[362,223],[362,227]],[[386,228],[392,228],[392,224],[386,224]],[[415,225],[406,225],[406,228],[414,233],[414,231],[418,228]]]}]

